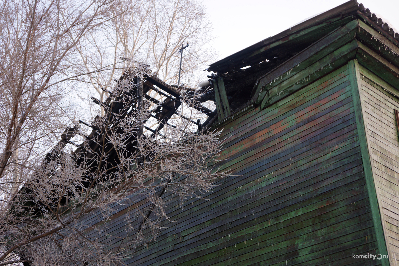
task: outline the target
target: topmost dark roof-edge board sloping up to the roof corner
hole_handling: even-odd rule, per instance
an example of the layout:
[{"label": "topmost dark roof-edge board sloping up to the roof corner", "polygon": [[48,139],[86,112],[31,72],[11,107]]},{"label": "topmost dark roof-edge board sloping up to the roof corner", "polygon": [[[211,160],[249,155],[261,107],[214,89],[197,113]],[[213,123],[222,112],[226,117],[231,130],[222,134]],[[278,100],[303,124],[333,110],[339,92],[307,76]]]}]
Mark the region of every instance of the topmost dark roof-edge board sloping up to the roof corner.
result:
[{"label": "topmost dark roof-edge board sloping up to the roof corner", "polygon": [[[254,54],[260,53],[261,50],[265,50],[264,47],[268,45],[272,45],[273,43],[278,43],[278,42],[284,42],[284,39],[287,41],[290,39],[289,36],[294,36],[300,31],[310,29],[312,27],[320,28],[324,30],[324,27],[326,24],[330,24],[334,20],[340,20],[341,18],[348,16],[350,14],[357,14],[357,10],[359,9],[358,2],[356,0],[350,0],[340,6],[337,6],[336,8],[333,8],[331,10],[328,10],[327,12],[324,12],[318,16],[315,16],[309,20],[306,20],[296,26],[293,26],[273,37],[269,37],[267,39],[264,39],[263,41],[260,41],[258,43],[255,43],[254,45],[251,45],[237,53],[234,53],[233,55],[230,55],[224,59],[221,59],[209,66],[208,71],[217,71],[224,73],[226,70],[229,69],[229,65],[232,64],[243,64],[242,60],[248,57],[252,57]],[[343,24],[347,22],[342,22]],[[322,26],[322,27],[317,27],[317,26]],[[341,24],[342,25],[342,24]],[[337,24],[335,27],[338,27],[339,25]],[[314,30],[316,30],[314,28]],[[322,36],[322,34],[321,34]]]}]

